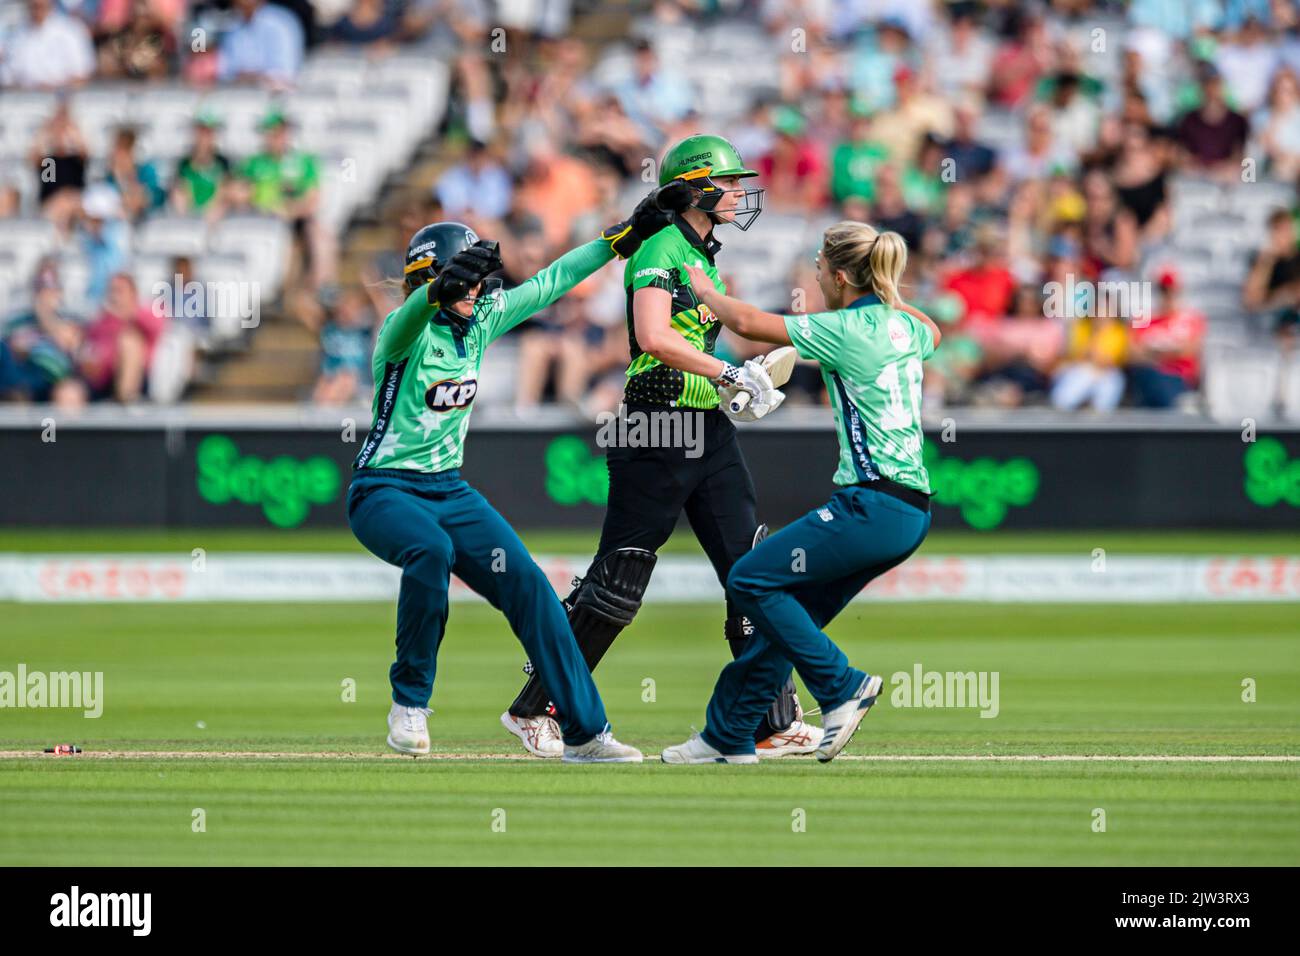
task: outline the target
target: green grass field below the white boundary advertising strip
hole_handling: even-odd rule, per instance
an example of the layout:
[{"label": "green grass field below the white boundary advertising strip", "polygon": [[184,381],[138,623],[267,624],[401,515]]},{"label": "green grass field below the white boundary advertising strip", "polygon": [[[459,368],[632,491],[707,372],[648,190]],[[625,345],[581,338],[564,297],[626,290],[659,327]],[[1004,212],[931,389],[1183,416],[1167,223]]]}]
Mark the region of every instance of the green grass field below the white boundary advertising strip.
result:
[{"label": "green grass field below the white boundary advertising strip", "polygon": [[[997,671],[997,717],[883,697],[854,760],[758,767],[385,758],[384,605],[0,614],[0,670],[101,670],[105,697],[99,719],[0,710],[0,749],[88,752],[0,760],[0,864],[1300,864],[1297,762],[870,760],[1300,754],[1294,606],[854,605],[831,632],[887,692],[915,663]],[[685,739],[724,658],[716,607],[646,607],[598,672],[619,736]],[[495,613],[452,607],[439,753],[514,750],[520,663]],[[299,756],[214,756],[257,750]]]}]

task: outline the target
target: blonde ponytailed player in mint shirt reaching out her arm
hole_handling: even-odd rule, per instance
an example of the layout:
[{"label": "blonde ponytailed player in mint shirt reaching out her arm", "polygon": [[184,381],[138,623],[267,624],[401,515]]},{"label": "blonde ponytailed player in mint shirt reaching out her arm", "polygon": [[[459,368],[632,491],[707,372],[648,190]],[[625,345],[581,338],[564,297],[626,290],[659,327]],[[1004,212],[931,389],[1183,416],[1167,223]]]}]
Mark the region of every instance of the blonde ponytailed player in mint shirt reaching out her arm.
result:
[{"label": "blonde ponytailed player in mint shirt reaching out her arm", "polygon": [[754,727],[792,665],[822,705],[822,762],[844,749],[880,692],[880,678],[850,667],[822,628],[930,531],[920,363],[940,332],[898,298],[906,261],[897,233],[862,222],[831,226],[818,254],[818,285],[831,311],[789,316],[723,295],[702,271],[688,269],[692,287],[727,328],[793,345],[822,365],[840,440],[840,488],[824,507],[736,562],[727,596],[757,633],[718,678],[705,730],[667,748],[666,763],[755,762]]}]

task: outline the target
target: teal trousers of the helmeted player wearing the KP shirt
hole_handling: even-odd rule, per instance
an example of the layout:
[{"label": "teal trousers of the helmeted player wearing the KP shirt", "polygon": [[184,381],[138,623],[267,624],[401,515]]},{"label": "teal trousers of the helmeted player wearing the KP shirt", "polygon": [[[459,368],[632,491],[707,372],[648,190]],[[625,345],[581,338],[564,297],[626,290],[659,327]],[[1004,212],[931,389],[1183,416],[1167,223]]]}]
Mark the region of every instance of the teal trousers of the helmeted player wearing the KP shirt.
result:
[{"label": "teal trousers of the helmeted player wearing the KP shirt", "polygon": [[564,743],[585,744],[608,727],[555,589],[515,529],[459,471],[358,471],[347,518],[358,541],[402,568],[396,661],[389,671],[395,702],[429,702],[455,574],[504,613],[555,701]]}]

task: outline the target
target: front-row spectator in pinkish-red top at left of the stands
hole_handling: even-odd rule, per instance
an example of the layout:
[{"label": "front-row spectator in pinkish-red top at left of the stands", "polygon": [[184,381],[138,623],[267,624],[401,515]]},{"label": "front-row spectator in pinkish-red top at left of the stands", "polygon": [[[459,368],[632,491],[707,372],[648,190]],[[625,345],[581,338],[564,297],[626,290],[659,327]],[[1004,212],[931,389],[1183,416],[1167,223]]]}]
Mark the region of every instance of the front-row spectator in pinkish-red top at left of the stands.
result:
[{"label": "front-row spectator in pinkish-red top at left of the stands", "polygon": [[162,310],[155,311],[140,302],[131,274],[116,273],[99,316],[86,329],[81,354],[81,373],[91,395],[124,405],[140,401],[153,351],[166,325]]}]

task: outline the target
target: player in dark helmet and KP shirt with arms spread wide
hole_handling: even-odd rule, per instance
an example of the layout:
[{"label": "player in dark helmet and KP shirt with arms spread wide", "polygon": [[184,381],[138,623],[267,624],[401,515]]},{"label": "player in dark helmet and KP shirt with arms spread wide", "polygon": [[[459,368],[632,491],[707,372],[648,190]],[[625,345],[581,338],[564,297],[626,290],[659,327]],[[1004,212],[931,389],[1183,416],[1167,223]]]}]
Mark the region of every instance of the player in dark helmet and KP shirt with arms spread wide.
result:
[{"label": "player in dark helmet and KP shirt with arms spread wide", "polygon": [[[396,662],[389,679],[389,745],[428,753],[426,705],[456,574],[506,614],[559,708],[563,758],[637,762],[610,732],[564,607],[514,528],[460,477],[484,350],[615,255],[632,255],[690,202],[685,186],[656,190],[632,216],[526,282],[484,294],[500,268],[495,242],[459,222],[419,230],[406,256],[407,299],[389,313],[372,359],[374,423],[348,489],[352,533],[402,568]],[[660,207],[659,203],[664,206]]]}]

